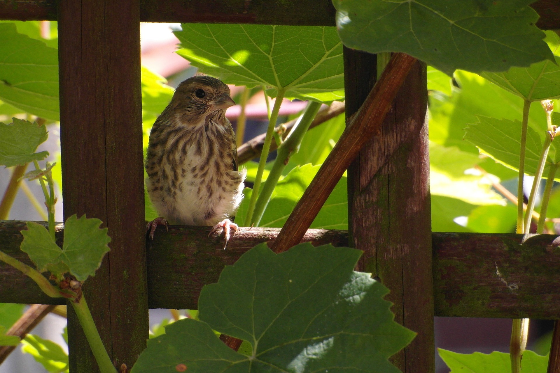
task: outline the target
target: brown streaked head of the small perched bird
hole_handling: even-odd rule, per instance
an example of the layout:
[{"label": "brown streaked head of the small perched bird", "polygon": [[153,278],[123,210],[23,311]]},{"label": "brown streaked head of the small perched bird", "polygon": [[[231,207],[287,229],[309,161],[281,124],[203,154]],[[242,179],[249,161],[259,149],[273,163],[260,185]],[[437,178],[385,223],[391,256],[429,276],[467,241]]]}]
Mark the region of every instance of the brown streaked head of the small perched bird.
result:
[{"label": "brown streaked head of the small perched bird", "polygon": [[220,79],[198,75],[179,84],[171,104],[180,112],[183,123],[196,124],[208,117],[225,116],[226,109],[235,102],[230,97],[230,88]]}]

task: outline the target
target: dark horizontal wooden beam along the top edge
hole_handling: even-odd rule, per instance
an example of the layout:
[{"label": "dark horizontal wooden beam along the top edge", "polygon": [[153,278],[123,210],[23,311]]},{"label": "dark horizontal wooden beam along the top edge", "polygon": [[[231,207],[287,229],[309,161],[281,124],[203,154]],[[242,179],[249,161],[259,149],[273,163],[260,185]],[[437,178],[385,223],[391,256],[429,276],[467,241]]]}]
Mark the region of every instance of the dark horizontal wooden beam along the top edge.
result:
[{"label": "dark horizontal wooden beam along the top edge", "polygon": [[[560,2],[539,0],[531,7],[543,30],[560,28]],[[334,26],[331,0],[141,0],[142,22],[255,23],[260,25]],[[0,2],[0,20],[57,20],[56,0]]]}]

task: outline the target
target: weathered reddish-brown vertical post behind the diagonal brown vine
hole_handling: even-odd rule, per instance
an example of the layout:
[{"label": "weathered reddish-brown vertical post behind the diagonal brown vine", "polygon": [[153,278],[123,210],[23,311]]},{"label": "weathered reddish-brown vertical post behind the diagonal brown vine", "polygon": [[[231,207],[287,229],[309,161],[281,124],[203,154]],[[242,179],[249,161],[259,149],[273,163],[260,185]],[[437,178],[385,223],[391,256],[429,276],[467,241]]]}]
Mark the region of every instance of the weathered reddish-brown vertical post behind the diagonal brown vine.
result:
[{"label": "weathered reddish-brown vertical post behind the diagonal brown vine", "polygon": [[[375,83],[375,55],[344,49],[346,115]],[[405,373],[435,369],[426,65],[418,62],[382,127],[348,169],[349,242],[364,251],[359,270],[391,293],[395,320],[418,333],[392,358]],[[384,150],[407,138],[389,160]],[[370,170],[383,165],[376,174]]]}]

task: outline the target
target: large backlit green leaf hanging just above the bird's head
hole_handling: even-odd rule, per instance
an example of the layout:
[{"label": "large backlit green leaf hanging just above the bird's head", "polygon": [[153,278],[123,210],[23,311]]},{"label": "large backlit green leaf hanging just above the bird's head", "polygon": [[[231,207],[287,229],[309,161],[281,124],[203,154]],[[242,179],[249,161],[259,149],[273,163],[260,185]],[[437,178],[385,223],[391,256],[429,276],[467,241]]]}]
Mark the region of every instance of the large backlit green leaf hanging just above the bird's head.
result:
[{"label": "large backlit green leaf hanging just above the bird's head", "polygon": [[264,85],[276,97],[344,99],[342,42],[334,27],[183,23],[177,53],[227,84]]}]

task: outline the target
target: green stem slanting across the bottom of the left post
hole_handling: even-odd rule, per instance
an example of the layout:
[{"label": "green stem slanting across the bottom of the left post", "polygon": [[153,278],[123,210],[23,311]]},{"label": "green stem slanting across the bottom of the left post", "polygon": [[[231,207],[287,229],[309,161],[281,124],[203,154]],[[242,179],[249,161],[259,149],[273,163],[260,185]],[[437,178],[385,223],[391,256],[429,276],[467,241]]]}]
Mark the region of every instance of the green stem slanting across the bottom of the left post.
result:
[{"label": "green stem slanting across the bottom of the left post", "polygon": [[91,317],[90,309],[87,307],[86,298],[80,298],[79,302],[70,302],[83,329],[83,333],[86,334],[87,342],[90,344],[91,351],[94,353],[95,361],[97,361],[97,366],[99,366],[99,371],[101,373],[117,373],[115,366],[111,362],[105,346],[101,341],[99,332],[95,327],[94,318]]}]

